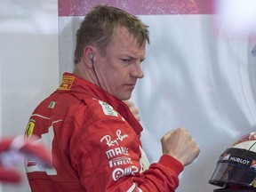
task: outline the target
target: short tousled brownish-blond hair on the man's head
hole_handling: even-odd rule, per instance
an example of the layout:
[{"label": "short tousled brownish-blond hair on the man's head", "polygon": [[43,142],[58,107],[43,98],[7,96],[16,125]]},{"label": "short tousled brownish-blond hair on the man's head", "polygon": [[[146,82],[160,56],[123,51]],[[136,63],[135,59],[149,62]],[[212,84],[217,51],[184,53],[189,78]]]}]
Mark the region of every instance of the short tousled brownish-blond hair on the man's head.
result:
[{"label": "short tousled brownish-blond hair on the man's head", "polygon": [[116,27],[127,28],[140,46],[149,44],[148,26],[137,16],[106,4],[96,5],[85,15],[80,28],[76,32],[75,64],[78,63],[86,45],[93,45],[106,54],[108,44],[111,43]]}]

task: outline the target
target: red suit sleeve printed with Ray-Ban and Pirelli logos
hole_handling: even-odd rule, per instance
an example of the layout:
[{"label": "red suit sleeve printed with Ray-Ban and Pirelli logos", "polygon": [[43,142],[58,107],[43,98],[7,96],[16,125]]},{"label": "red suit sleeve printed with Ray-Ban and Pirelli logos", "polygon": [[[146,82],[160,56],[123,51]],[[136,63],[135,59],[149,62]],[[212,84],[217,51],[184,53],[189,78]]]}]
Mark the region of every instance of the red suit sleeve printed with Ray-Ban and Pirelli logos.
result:
[{"label": "red suit sleeve printed with Ray-Ban and Pirelli logos", "polygon": [[71,161],[87,191],[175,191],[183,165],[162,156],[140,172],[140,139],[124,120],[104,118],[79,133]]}]

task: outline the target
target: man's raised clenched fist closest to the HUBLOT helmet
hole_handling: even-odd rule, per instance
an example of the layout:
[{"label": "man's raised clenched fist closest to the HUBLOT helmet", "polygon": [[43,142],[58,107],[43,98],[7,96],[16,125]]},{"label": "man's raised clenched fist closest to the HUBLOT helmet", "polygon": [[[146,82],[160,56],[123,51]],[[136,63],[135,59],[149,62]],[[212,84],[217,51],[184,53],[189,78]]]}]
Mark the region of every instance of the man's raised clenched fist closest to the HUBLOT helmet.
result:
[{"label": "man's raised clenched fist closest to the HUBLOT helmet", "polygon": [[184,166],[191,164],[199,155],[200,148],[186,128],[167,132],[161,140],[164,155],[176,158]]}]

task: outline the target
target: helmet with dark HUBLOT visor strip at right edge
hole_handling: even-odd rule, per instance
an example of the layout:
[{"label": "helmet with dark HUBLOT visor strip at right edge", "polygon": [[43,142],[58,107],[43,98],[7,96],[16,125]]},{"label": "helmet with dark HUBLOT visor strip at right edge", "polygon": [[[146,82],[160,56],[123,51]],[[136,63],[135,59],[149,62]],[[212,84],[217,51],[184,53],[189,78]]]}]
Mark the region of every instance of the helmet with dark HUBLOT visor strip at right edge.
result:
[{"label": "helmet with dark HUBLOT visor strip at right edge", "polygon": [[256,132],[244,135],[221,154],[209,183],[256,191]]}]

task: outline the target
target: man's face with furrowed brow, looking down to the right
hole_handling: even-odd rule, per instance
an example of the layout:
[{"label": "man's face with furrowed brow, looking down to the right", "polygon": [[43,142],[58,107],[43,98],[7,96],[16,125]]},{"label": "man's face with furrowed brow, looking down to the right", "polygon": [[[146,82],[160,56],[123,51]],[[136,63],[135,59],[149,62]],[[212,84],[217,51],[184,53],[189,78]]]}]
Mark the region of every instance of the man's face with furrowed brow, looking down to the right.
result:
[{"label": "man's face with furrowed brow, looking down to the right", "polygon": [[[100,83],[102,88],[119,100],[129,100],[138,76],[132,75],[134,64],[145,59],[146,44],[140,46],[127,28],[116,28],[114,38],[108,45],[106,55],[100,60]],[[127,60],[131,60],[130,63]]]}]

